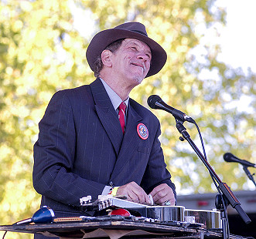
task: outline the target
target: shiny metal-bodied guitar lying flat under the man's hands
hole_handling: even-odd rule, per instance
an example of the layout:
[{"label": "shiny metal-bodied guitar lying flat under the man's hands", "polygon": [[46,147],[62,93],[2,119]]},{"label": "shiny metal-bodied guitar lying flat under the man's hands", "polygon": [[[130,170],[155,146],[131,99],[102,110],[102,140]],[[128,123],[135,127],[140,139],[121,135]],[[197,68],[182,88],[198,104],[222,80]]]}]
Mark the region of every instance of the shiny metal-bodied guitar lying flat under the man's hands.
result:
[{"label": "shiny metal-bodied guitar lying flat under the man's hands", "polygon": [[91,202],[88,200],[88,197],[83,197],[80,198],[80,210],[101,211],[123,208],[137,218],[150,218],[159,222],[179,221],[183,225],[195,224],[207,229],[221,228],[219,211],[189,210],[183,206],[149,206],[125,199],[124,197],[119,198],[106,195],[99,196],[97,200]]}]

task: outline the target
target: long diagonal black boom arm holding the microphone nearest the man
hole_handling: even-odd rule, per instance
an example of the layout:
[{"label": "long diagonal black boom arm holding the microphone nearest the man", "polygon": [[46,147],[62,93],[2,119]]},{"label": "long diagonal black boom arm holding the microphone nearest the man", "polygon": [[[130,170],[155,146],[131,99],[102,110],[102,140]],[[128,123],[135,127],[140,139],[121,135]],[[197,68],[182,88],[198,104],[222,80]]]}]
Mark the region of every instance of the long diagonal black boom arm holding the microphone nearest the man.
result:
[{"label": "long diagonal black boom arm holding the microphone nearest the man", "polygon": [[197,154],[197,156],[202,160],[203,164],[207,167],[207,170],[209,170],[210,175],[216,180],[218,184],[218,188],[224,194],[224,196],[227,198],[228,203],[237,210],[237,213],[241,216],[241,218],[244,220],[246,224],[249,224],[251,222],[251,219],[247,216],[247,214],[244,212],[243,208],[241,207],[241,204],[237,197],[233,194],[230,187],[227,186],[227,183],[223,183],[220,178],[217,176],[217,173],[213,170],[213,168],[210,166],[210,163],[203,157],[203,154],[200,152],[200,150],[197,148],[195,143],[193,143],[193,140],[191,140],[189,133],[187,133],[186,128],[183,126],[183,121],[176,119],[176,128],[183,135],[183,138],[188,141],[190,146],[192,146],[193,150]]}]

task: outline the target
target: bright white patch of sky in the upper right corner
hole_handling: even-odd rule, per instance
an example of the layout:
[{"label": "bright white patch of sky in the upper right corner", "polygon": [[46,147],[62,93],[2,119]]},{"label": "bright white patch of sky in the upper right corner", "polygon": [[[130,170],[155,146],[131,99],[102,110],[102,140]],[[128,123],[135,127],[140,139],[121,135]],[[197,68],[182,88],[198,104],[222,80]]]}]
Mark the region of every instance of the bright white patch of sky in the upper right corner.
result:
[{"label": "bright white patch of sky in the upper right corner", "polygon": [[227,27],[220,34],[222,53],[219,59],[245,71],[256,72],[256,1],[218,0],[217,5],[227,7]]}]

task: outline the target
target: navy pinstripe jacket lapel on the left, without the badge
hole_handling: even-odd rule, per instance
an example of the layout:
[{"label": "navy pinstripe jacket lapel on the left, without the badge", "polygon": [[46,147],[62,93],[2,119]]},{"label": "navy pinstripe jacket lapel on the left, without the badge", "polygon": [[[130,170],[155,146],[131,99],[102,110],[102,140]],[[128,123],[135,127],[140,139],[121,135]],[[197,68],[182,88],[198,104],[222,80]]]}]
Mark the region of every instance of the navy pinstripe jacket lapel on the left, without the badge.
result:
[{"label": "navy pinstripe jacket lapel on the left, without the badge", "polygon": [[101,79],[96,79],[90,84],[90,89],[94,97],[95,109],[97,116],[101,120],[104,130],[108,133],[108,137],[114,146],[116,155],[118,155],[123,133],[118,120],[117,113],[108,97],[108,93],[101,83]]}]

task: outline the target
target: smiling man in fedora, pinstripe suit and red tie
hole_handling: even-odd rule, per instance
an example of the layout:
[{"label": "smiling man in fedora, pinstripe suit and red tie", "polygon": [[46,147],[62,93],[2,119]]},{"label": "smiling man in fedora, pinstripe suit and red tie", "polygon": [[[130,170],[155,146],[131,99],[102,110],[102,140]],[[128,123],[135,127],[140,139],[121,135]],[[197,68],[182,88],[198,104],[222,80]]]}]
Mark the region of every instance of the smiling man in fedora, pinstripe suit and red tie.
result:
[{"label": "smiling man in fedora, pinstripe suit and red tie", "polygon": [[79,199],[87,195],[150,204],[151,194],[155,204],[174,205],[159,120],[129,98],[131,89],[165,65],[165,50],[148,38],[144,25],[128,22],[97,33],[86,55],[97,79],[56,93],[39,123],[33,184],[42,205],[56,217],[80,215]]}]

